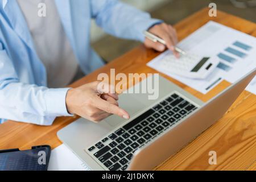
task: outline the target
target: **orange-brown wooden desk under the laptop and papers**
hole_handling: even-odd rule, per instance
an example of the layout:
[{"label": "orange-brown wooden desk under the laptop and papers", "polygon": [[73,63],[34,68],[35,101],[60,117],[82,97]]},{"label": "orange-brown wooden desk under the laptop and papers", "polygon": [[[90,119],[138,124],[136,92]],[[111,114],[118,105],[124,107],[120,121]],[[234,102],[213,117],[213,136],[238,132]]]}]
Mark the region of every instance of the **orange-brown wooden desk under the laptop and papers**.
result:
[{"label": "orange-brown wooden desk under the laptop and papers", "polygon": [[[179,40],[185,38],[209,20],[256,36],[256,24],[236,16],[218,11],[216,18],[208,16],[208,9],[189,16],[175,24]],[[109,73],[110,68],[122,73],[155,73],[146,63],[159,53],[139,46],[104,68],[75,82],[76,87],[95,81],[99,73]],[[162,75],[181,88],[207,101],[226,88],[229,83],[221,82],[207,94],[201,94],[173,78]],[[0,150],[7,148],[26,149],[40,144],[55,148],[61,144],[56,132],[77,118],[59,117],[52,126],[35,126],[27,123],[8,121],[0,125]],[[209,165],[209,151],[217,152],[217,165]],[[220,121],[189,143],[176,155],[171,156],[157,170],[255,170],[256,169],[256,96],[244,91]]]}]

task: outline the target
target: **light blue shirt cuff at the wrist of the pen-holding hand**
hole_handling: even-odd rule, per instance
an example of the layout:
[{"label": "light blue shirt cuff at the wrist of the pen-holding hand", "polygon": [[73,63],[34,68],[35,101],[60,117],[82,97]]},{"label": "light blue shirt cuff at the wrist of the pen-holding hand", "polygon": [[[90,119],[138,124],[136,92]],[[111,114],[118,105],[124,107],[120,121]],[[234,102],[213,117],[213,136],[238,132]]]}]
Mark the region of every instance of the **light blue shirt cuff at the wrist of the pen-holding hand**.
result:
[{"label": "light blue shirt cuff at the wrist of the pen-holding hand", "polygon": [[143,31],[148,30],[148,28],[151,28],[155,24],[160,24],[163,23],[163,20],[160,19],[148,19],[148,20],[143,20],[143,22],[140,23],[140,26],[138,27],[139,31],[139,41],[144,42],[145,36],[143,34]]}]

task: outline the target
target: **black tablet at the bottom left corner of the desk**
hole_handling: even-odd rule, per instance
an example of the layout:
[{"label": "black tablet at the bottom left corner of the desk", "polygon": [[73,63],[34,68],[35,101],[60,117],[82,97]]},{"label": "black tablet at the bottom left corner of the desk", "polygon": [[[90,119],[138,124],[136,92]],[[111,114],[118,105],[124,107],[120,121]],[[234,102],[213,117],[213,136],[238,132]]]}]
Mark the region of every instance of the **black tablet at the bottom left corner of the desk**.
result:
[{"label": "black tablet at the bottom left corner of the desk", "polygon": [[51,147],[35,146],[31,150],[0,150],[0,171],[46,171]]}]

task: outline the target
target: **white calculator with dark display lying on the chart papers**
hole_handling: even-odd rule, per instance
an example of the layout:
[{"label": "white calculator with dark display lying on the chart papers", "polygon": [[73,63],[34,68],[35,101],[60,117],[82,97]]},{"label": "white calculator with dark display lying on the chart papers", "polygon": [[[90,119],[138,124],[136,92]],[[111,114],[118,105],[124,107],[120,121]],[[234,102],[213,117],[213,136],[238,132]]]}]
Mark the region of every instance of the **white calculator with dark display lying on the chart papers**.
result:
[{"label": "white calculator with dark display lying on the chart papers", "polygon": [[160,67],[170,73],[189,78],[203,79],[207,77],[220,61],[216,57],[203,57],[186,53],[177,59],[167,53],[160,61]]}]

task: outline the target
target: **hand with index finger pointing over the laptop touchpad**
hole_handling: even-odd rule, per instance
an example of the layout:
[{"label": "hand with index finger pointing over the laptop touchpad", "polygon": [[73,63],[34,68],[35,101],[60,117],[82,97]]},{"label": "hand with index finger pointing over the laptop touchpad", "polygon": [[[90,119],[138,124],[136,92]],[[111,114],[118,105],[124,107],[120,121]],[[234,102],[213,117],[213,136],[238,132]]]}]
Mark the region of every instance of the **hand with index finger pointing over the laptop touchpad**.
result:
[{"label": "hand with index finger pointing over the laptop touchpad", "polygon": [[93,122],[99,122],[112,114],[129,119],[129,114],[118,107],[118,96],[113,86],[108,84],[100,86],[99,84],[102,82],[91,82],[68,90],[66,97],[68,112]]}]

